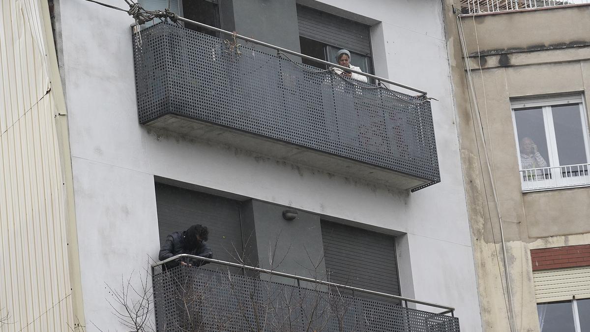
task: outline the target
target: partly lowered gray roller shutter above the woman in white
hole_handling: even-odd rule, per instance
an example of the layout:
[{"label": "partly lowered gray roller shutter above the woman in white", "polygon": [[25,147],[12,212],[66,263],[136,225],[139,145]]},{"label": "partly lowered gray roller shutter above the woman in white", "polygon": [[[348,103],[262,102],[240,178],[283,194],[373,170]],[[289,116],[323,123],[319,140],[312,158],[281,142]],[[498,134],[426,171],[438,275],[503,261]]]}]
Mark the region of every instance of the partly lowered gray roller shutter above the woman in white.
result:
[{"label": "partly lowered gray roller shutter above the woman in white", "polygon": [[300,5],[297,21],[301,37],[371,56],[369,25]]}]

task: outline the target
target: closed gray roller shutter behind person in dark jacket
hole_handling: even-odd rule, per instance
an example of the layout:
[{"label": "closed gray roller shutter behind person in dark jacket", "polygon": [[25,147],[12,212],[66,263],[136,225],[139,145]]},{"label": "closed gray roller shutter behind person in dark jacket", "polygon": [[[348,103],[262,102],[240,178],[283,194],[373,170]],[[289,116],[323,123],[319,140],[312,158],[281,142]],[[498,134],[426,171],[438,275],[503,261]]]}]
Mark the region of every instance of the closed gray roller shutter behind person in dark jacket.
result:
[{"label": "closed gray roller shutter behind person in dark jacket", "polygon": [[170,233],[202,224],[209,229],[213,258],[235,262],[235,249],[242,252],[240,202],[156,183],[156,206],[160,245]]}]

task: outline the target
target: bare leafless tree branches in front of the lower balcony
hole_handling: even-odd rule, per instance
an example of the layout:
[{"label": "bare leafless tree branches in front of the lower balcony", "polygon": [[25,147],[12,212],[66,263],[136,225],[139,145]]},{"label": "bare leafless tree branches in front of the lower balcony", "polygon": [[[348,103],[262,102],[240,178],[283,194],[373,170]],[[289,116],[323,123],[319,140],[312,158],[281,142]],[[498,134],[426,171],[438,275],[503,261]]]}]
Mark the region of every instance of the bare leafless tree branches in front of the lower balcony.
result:
[{"label": "bare leafless tree branches in front of the lower balcony", "polygon": [[[232,243],[228,252],[242,265],[246,265],[248,239],[242,252]],[[279,268],[286,261],[291,246],[278,248],[280,233],[269,243],[268,263],[270,270]],[[274,243],[273,243],[274,242]],[[280,250],[279,250],[280,249]],[[323,255],[317,258],[305,248],[307,260],[300,266],[309,271],[314,279],[326,279]],[[284,253],[284,255],[283,255]],[[278,257],[280,255],[280,257]],[[301,331],[320,332],[353,328],[360,331],[361,324],[368,326],[371,317],[358,319],[354,326],[349,323],[355,310],[355,299],[340,294],[340,289],[315,283],[305,285],[283,284],[268,278],[255,279],[232,274],[227,266],[215,269],[214,264],[203,266],[176,266],[159,268],[153,276],[153,288],[148,276],[140,276],[140,282],[122,277],[117,287],[110,292],[110,307],[117,319],[133,332],[148,332],[150,318],[158,313],[158,330],[162,331],[227,331],[237,328],[243,331]],[[147,271],[146,271],[147,272]],[[245,272],[245,269],[244,269]],[[321,274],[321,276],[319,275]],[[158,294],[155,302],[154,295]],[[345,320],[346,324],[345,324]],[[77,331],[71,331],[77,332]]]}]

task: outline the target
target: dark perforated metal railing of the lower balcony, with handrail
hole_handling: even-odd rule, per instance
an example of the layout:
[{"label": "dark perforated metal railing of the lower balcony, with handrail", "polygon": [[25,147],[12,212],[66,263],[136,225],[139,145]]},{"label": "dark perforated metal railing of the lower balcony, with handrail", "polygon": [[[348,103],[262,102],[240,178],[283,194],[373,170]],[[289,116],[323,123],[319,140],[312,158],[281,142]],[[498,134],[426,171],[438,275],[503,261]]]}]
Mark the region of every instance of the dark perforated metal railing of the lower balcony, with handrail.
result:
[{"label": "dark perforated metal railing of the lower balcony, with handrail", "polygon": [[[188,255],[165,262],[180,256]],[[209,268],[214,265],[211,264],[206,268],[176,266],[162,271],[163,262],[153,264],[158,331],[459,331],[454,308],[445,305],[253,266],[204,260],[221,268]],[[268,278],[237,275],[228,272],[229,266]],[[273,278],[282,278],[283,282]],[[356,291],[355,296],[345,295],[348,290]],[[381,295],[389,300],[372,300],[362,294]],[[408,308],[408,302],[444,311]]]}]

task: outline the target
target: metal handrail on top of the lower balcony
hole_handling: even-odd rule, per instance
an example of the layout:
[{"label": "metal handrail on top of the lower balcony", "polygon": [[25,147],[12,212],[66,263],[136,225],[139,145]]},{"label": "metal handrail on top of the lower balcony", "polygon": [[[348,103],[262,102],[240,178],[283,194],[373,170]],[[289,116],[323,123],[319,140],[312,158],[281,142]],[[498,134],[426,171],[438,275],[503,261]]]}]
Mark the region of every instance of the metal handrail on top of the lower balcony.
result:
[{"label": "metal handrail on top of the lower balcony", "polygon": [[394,298],[396,300],[405,301],[406,303],[407,302],[411,302],[411,303],[428,305],[429,307],[435,307],[435,308],[445,309],[445,311],[442,311],[441,313],[438,313],[439,315],[451,314],[454,317],[455,308],[454,307],[449,307],[448,305],[442,305],[442,304],[437,304],[437,303],[433,303],[433,302],[415,300],[413,298],[407,298],[407,297],[401,297],[401,296],[398,296],[398,295],[392,295],[392,294],[387,294],[387,293],[382,293],[382,292],[371,291],[369,289],[364,289],[364,288],[358,288],[358,287],[352,287],[352,286],[335,284],[334,282],[323,281],[323,280],[318,280],[318,279],[313,279],[313,278],[307,278],[305,276],[299,276],[299,275],[294,275],[294,274],[286,274],[286,273],[283,273],[283,272],[277,272],[277,271],[273,271],[273,270],[257,268],[255,266],[248,266],[248,265],[244,265],[244,264],[219,261],[219,259],[212,259],[212,258],[205,258],[205,257],[201,257],[201,256],[189,255],[188,253],[181,253],[179,255],[172,256],[171,258],[165,259],[163,261],[152,263],[152,276],[154,275],[154,269],[157,266],[160,266],[162,264],[165,264],[165,263],[168,263],[168,262],[171,262],[171,261],[175,261],[176,259],[179,259],[179,258],[182,258],[182,257],[195,258],[195,259],[199,259],[199,260],[205,261],[205,262],[218,263],[218,264],[221,264],[221,265],[232,266],[234,268],[247,269],[247,270],[250,270],[250,271],[262,272],[264,274],[284,276],[286,278],[297,279],[297,280],[300,280],[300,281],[312,282],[314,284],[332,286],[332,287],[336,287],[336,288],[349,289],[351,291],[359,291],[359,292],[364,292],[364,293],[368,293],[368,294],[379,295],[379,296],[382,296],[382,297]]}]

